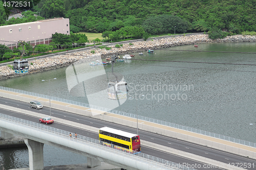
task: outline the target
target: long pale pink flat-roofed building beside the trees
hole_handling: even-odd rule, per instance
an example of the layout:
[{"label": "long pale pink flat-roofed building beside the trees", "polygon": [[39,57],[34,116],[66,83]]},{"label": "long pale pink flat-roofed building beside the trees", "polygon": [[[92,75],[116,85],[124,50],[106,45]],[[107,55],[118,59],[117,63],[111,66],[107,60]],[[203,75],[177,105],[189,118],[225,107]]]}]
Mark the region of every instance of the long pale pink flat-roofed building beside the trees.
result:
[{"label": "long pale pink flat-roofed building beside the trees", "polygon": [[54,33],[70,34],[69,18],[51,18],[35,22],[0,27],[0,44],[17,47],[18,40],[36,44],[48,44]]}]

